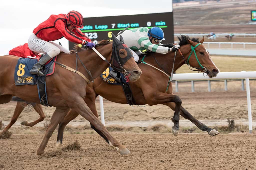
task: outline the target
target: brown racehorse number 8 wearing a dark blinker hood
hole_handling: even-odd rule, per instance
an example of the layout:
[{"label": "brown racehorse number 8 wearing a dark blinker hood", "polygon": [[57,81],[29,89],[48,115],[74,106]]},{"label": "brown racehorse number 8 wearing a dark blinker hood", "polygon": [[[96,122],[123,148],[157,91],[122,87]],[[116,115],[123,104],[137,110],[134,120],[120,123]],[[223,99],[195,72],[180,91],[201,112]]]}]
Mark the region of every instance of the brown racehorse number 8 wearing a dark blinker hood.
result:
[{"label": "brown racehorse number 8 wearing a dark blinker hood", "polygon": [[[129,48],[121,39],[121,41],[116,39],[114,34],[112,34],[112,37],[113,42],[103,40],[95,47],[100,54],[105,56],[105,60],[102,60],[90,49],[84,49],[77,53],[71,52],[70,54],[60,53],[58,55],[57,62],[60,66],[64,68],[66,67],[65,65],[71,68],[78,66],[77,71],[80,74],[56,66],[55,73],[46,78],[48,103],[50,106],[56,107],[56,110],[51,117],[45,136],[37,150],[38,155],[44,153],[49,138],[70,108],[87,119],[94,129],[99,131],[104,139],[108,140],[109,145],[118,150],[120,154],[130,153],[124,145],[111,136],[105,126],[84,102],[87,84],[97,78],[109,66],[109,63],[123,72],[129,72],[129,79],[131,81],[136,81],[140,78],[142,71],[135,60],[131,58],[132,53]],[[76,60],[78,56],[81,56],[80,62]],[[15,86],[14,70],[18,59],[19,57],[15,56],[0,56],[0,79],[4,80],[0,82],[0,104],[10,102],[13,96],[17,96],[24,101],[40,103],[36,85]],[[87,79],[89,77],[88,82],[85,81],[84,77],[87,77]]]}]

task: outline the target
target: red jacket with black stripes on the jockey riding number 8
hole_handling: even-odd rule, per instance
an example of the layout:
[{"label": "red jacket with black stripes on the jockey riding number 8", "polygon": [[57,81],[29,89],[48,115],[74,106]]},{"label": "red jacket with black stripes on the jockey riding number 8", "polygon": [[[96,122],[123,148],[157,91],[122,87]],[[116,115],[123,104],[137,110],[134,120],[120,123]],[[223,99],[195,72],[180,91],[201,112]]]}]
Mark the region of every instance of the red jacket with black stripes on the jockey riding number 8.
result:
[{"label": "red jacket with black stripes on the jockey riding number 8", "polygon": [[46,21],[40,23],[33,33],[45,41],[54,41],[65,37],[67,40],[84,44],[85,41],[92,42],[80,29],[75,28],[70,32],[66,25],[66,14],[51,15]]}]

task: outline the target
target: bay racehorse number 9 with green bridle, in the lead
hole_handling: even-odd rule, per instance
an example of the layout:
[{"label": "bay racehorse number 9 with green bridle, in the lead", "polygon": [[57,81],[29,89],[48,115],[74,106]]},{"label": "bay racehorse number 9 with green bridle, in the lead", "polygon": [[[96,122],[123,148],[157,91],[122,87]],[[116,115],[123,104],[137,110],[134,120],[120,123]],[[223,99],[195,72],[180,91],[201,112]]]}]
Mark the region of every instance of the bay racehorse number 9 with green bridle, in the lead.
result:
[{"label": "bay racehorse number 9 with green bridle, in the lead", "polygon": [[[173,64],[174,71],[176,71],[183,64],[189,63],[188,65],[190,67],[192,66],[198,71],[207,73],[210,78],[217,76],[219,69],[215,66],[208,51],[202,45],[204,42],[204,37],[201,41],[195,38],[190,40],[190,38],[185,35],[181,35],[181,37],[178,37],[178,39],[180,41],[180,51],[182,53],[177,52],[175,63],[174,52],[168,52],[167,54],[147,52],[144,61],[158,69],[163,70],[164,72],[168,73],[168,75],[170,75],[170,72],[172,71]],[[164,46],[172,47],[173,44],[166,44]],[[195,50],[195,53],[191,52],[193,49]],[[184,55],[184,58],[182,54]],[[141,59],[142,57],[140,57],[140,60]],[[202,65],[203,68],[201,68],[200,65]],[[169,78],[163,72],[143,63],[138,64],[138,66],[143,71],[143,74],[136,82],[130,82],[131,91],[137,105],[166,105],[175,112],[180,113],[180,115],[182,115],[184,118],[189,119],[202,131],[207,131],[210,136],[219,134],[219,132],[215,129],[209,128],[199,122],[184,107],[181,106],[182,101],[177,95],[173,94],[172,84],[170,83],[170,86],[167,86]],[[166,87],[168,88],[167,92]],[[98,117],[98,113],[95,106],[95,99],[98,95],[101,95],[103,98],[115,103],[127,104],[122,86],[106,83],[101,77],[98,77],[93,83],[90,83],[86,87],[86,97],[84,98],[84,101],[88,104],[89,108],[96,117]],[[177,136],[179,130],[179,114],[175,116],[175,112],[174,118],[172,118],[172,121],[174,122],[172,132],[175,136]],[[58,130],[57,146],[63,146],[62,140],[64,128],[78,115],[79,113],[76,113],[76,111],[71,109],[65,118],[61,120]]]}]

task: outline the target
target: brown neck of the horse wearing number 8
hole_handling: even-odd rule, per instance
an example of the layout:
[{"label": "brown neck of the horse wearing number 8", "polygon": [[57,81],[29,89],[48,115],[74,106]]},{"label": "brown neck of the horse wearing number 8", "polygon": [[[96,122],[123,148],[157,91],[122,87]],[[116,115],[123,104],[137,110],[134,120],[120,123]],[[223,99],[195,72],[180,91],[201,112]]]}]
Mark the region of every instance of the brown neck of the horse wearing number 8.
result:
[{"label": "brown neck of the horse wearing number 8", "polygon": [[[110,62],[112,55],[112,43],[97,46],[95,49]],[[78,52],[78,55],[86,68],[91,72],[93,79],[97,78],[109,66],[107,62],[105,62],[91,49]],[[82,73],[91,80],[91,77],[85,68],[83,68],[82,64],[80,62],[78,63],[79,67],[82,69]]]}]

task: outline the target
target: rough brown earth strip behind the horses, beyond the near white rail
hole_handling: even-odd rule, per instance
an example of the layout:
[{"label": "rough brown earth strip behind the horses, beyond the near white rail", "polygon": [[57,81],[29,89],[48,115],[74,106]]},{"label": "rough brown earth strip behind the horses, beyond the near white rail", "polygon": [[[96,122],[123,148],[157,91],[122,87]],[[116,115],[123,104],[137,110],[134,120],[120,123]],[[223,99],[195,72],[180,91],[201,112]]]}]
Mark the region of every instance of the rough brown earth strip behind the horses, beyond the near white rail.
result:
[{"label": "rough brown earth strip behind the horses, beyond the near white rail", "polygon": [[[179,90],[186,90],[188,92],[176,92],[182,99],[182,106],[187,109],[197,119],[248,119],[247,110],[247,97],[246,91],[240,91],[240,86],[235,88],[236,91],[226,92],[219,89],[219,85],[215,85],[217,92],[190,92],[191,83],[179,84]],[[223,84],[223,82],[222,82]],[[195,91],[206,89],[207,83],[196,82]],[[214,83],[212,83],[212,88]],[[232,85],[229,85],[232,89]],[[239,88],[239,89],[238,89]],[[253,86],[251,86],[253,88]],[[175,89],[175,88],[174,88]],[[10,102],[8,104],[0,105],[0,112],[3,120],[10,120],[16,103]],[[96,100],[97,111],[100,115],[99,100]],[[251,107],[252,117],[256,117],[256,91],[251,91]],[[54,107],[43,107],[46,118],[44,122],[50,120]],[[136,120],[163,120],[173,117],[173,111],[164,105],[146,106],[139,108],[132,108],[129,105],[113,103],[104,100],[105,121],[118,120],[118,121],[136,121]],[[30,112],[27,109],[20,114],[19,121],[32,121],[36,120],[39,115],[32,109]],[[181,117],[181,119],[184,119]],[[76,122],[87,122],[83,117],[78,116]]]}]

